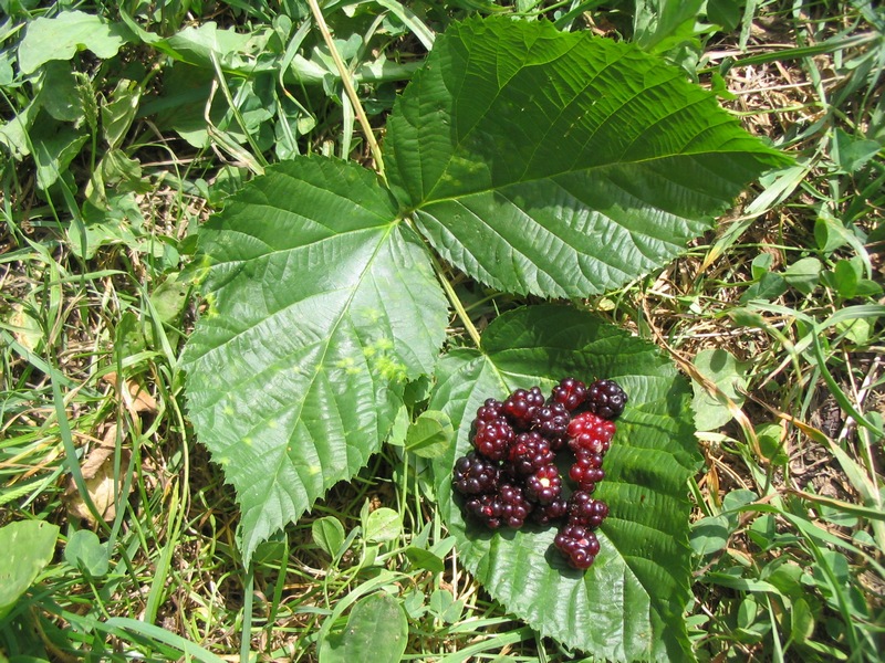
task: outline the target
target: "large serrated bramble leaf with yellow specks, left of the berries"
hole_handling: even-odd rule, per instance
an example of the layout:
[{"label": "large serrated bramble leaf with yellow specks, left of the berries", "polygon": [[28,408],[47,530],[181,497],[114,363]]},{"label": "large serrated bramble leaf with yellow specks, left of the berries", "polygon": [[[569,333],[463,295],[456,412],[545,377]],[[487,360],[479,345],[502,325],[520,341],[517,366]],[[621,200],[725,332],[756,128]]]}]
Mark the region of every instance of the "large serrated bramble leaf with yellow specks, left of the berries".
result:
[{"label": "large serrated bramble leaf with yellow specks, left of the berries", "polygon": [[201,230],[209,309],[188,343],[189,414],[237,491],[241,548],[296,520],[375,452],[431,372],[447,305],[374,173],[300,157]]}]

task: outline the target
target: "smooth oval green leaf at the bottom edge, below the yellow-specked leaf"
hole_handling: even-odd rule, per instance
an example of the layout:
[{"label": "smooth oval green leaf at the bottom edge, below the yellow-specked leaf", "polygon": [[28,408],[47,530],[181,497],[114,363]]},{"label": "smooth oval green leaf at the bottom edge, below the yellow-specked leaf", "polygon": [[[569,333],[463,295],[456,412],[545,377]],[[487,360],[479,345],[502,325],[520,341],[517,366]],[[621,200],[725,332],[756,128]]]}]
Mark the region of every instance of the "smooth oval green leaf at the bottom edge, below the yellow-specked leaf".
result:
[{"label": "smooth oval green leaf at the bottom edge, below the yellow-specked leaf", "polygon": [[403,607],[381,591],[357,601],[341,634],[320,641],[320,663],[396,663],[407,642],[408,621]]}]

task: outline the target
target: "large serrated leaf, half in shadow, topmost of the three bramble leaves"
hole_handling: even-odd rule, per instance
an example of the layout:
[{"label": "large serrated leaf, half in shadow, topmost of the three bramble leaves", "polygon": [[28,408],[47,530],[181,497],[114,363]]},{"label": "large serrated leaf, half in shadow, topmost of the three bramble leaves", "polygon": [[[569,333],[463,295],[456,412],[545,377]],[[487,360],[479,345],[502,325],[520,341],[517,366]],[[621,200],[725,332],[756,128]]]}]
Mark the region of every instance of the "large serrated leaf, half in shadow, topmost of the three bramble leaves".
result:
[{"label": "large serrated leaf, half in shadow, topmost of the three bramble leaves", "polygon": [[446,260],[544,296],[662,266],[788,162],[636,46],[504,18],[436,40],[385,149],[394,193]]}]

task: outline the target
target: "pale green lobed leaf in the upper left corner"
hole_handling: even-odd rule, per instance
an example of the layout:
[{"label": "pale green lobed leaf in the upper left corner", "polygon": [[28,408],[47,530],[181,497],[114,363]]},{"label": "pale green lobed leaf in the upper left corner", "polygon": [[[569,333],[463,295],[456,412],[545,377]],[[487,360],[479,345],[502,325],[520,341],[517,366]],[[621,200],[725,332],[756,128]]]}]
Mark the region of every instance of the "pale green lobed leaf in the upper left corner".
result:
[{"label": "pale green lobed leaf in the upper left corner", "polygon": [[128,36],[123,25],[82,11],[65,11],[51,19],[38,17],[28,23],[19,44],[19,67],[23,74],[32,74],[46,62],[71,60],[82,50],[108,60]]}]

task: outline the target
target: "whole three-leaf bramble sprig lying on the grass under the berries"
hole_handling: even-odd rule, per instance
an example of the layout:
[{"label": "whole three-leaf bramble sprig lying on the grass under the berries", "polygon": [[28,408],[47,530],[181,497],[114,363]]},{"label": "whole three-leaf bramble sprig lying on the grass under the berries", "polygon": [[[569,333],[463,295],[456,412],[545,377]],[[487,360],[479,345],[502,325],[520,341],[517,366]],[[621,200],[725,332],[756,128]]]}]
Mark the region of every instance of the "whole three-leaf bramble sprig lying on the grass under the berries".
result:
[{"label": "whole three-leaf bramble sprig lying on the grass under the berries", "polygon": [[[428,495],[493,597],[594,655],[689,655],[685,485],[700,459],[687,383],[579,306],[519,307],[480,337],[444,265],[514,295],[605,293],[678,255],[789,159],[635,46],[498,18],[436,39],[374,154],[377,173],[321,157],[270,168],[200,230],[189,414],[237,491],[244,564],[426,407],[457,431],[430,459]],[[472,347],[447,336],[449,306]],[[477,536],[451,499],[482,399],[563,375],[631,394],[587,572],[550,564],[549,530]],[[428,378],[425,403],[412,386]],[[315,536],[339,554],[332,524]]]}]

